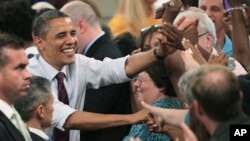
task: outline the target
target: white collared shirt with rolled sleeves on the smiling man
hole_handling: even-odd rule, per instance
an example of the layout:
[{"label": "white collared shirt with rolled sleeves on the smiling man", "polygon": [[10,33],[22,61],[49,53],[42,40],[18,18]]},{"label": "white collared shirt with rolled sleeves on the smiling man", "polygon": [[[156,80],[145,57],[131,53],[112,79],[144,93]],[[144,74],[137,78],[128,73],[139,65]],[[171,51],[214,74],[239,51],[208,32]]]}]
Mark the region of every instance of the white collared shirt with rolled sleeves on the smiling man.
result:
[{"label": "white collared shirt with rolled sleeves on the smiling man", "polygon": [[[75,62],[66,65],[61,70],[66,79],[64,85],[69,98],[69,106],[58,100],[57,80],[58,71],[49,65],[40,54],[36,54],[29,60],[28,70],[33,74],[45,77],[51,81],[52,94],[55,98],[52,125],[63,129],[66,119],[76,110],[82,110],[87,88],[99,88],[113,83],[129,81],[125,72],[125,61],[127,57],[104,61],[95,60],[86,56],[76,54]],[[51,131],[49,131],[51,135]],[[79,130],[70,130],[70,140],[80,141]]]}]

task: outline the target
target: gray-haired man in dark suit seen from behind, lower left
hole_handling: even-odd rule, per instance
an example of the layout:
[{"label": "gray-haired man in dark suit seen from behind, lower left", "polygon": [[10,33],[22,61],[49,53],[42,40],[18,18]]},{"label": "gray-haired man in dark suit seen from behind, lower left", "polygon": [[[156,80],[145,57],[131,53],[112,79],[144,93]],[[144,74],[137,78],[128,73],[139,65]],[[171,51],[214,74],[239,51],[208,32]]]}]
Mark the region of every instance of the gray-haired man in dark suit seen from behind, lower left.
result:
[{"label": "gray-haired man in dark suit seen from behind, lower left", "polygon": [[28,125],[33,141],[48,141],[45,129],[51,126],[54,111],[49,80],[33,76],[28,95],[15,102],[15,108]]}]

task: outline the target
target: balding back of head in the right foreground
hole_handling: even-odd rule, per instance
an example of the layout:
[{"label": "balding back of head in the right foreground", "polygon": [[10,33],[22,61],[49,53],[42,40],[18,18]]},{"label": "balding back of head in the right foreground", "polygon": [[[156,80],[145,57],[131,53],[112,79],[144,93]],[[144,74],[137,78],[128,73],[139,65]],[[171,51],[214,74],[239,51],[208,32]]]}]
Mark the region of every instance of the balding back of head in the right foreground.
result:
[{"label": "balding back of head in the right foreground", "polygon": [[241,92],[236,76],[220,65],[204,65],[199,69],[191,80],[191,90],[207,116],[222,122],[239,115]]}]

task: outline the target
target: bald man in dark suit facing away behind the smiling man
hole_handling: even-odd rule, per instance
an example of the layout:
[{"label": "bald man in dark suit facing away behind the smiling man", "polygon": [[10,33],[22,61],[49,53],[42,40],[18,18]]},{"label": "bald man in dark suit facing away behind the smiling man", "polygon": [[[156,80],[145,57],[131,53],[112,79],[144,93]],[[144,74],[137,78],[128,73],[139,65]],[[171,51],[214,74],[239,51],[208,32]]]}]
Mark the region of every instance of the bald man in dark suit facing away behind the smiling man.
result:
[{"label": "bald man in dark suit facing away behind the smiling man", "polygon": [[[76,25],[77,53],[103,60],[122,57],[110,37],[103,32],[93,9],[81,1],[73,1],[61,9]],[[82,70],[84,71],[84,70]],[[105,70],[103,70],[105,71]],[[130,108],[129,83],[115,84],[100,89],[88,89],[83,110],[105,114],[127,114]],[[128,134],[130,126],[119,126],[96,131],[81,131],[83,141],[118,141]]]}]

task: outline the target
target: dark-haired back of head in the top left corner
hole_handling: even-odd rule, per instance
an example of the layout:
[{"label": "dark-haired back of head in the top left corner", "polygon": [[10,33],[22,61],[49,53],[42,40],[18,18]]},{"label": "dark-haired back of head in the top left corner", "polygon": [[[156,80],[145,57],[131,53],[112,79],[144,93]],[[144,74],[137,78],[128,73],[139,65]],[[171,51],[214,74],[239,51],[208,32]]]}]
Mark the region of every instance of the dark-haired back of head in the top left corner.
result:
[{"label": "dark-haired back of head in the top left corner", "polygon": [[0,5],[0,31],[14,34],[28,44],[32,43],[31,26],[36,14],[23,0],[5,1]]}]

